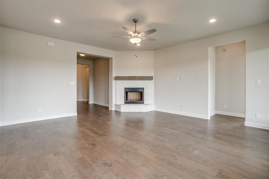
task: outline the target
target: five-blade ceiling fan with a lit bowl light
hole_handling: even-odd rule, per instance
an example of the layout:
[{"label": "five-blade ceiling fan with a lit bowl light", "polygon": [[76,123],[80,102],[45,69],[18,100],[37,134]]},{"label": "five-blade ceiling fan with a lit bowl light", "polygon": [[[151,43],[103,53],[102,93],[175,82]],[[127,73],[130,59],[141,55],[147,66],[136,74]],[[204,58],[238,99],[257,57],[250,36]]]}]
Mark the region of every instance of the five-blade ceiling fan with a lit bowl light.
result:
[{"label": "five-blade ceiling fan with a lit bowl light", "polygon": [[151,29],[151,30],[147,30],[145,32],[140,33],[138,31],[136,31],[136,22],[138,22],[138,19],[134,18],[133,22],[135,23],[135,31],[132,32],[130,29],[128,29],[126,27],[122,27],[128,34],[130,34],[130,36],[126,36],[126,37],[119,36],[119,37],[130,38],[130,41],[135,45],[139,44],[139,42],[141,40],[148,40],[148,41],[155,41],[156,40],[155,38],[145,37],[146,35],[149,35],[149,34],[156,32],[157,31],[156,29]]}]

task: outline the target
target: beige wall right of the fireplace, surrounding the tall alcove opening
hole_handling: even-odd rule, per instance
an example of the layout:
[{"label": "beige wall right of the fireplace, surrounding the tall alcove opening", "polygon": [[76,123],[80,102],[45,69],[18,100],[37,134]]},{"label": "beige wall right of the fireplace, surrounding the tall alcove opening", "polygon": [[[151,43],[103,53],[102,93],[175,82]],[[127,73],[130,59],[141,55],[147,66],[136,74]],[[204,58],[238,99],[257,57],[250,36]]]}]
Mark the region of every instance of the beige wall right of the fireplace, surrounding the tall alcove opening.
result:
[{"label": "beige wall right of the fireplace, surrounding the tall alcove opening", "polygon": [[[269,23],[154,51],[157,110],[209,118],[208,47],[246,41],[245,125],[269,129]],[[182,76],[182,81],[176,81]],[[256,85],[256,79],[261,80]],[[158,105],[158,102],[160,105]],[[184,108],[176,108],[176,103]],[[261,117],[256,118],[255,113]]]}]

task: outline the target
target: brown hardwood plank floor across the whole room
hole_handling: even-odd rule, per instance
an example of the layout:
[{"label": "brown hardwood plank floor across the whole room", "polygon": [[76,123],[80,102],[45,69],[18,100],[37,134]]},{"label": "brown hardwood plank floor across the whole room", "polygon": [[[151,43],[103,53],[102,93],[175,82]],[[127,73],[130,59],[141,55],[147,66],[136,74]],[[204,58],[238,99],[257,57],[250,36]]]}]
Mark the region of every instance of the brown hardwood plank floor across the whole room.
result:
[{"label": "brown hardwood plank floor across the whole room", "polygon": [[5,178],[269,178],[269,131],[244,119],[117,112],[78,102],[78,116],[1,129]]}]

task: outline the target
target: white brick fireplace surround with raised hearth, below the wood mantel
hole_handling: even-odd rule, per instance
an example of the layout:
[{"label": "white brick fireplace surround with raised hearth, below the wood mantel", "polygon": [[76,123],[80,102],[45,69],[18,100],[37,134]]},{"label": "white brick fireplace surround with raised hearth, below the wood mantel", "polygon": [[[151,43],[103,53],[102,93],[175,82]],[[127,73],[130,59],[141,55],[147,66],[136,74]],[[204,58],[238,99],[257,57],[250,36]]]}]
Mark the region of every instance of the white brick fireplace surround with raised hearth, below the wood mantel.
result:
[{"label": "white brick fireplace surround with raised hearth, below the wood mantel", "polygon": [[[144,104],[124,104],[124,88],[144,88]],[[153,111],[153,98],[153,80],[116,80],[116,111]]]}]

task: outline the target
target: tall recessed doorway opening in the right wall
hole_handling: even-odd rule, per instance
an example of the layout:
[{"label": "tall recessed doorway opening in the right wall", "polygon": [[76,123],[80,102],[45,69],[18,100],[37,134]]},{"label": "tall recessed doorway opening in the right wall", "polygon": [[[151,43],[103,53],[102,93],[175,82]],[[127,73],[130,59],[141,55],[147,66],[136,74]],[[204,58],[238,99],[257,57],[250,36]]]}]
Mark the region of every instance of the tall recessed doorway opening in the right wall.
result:
[{"label": "tall recessed doorway opening in the right wall", "polygon": [[245,49],[245,41],[209,47],[210,118],[215,114],[245,118]]}]

